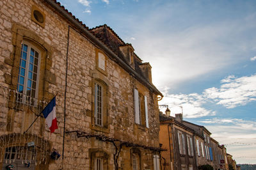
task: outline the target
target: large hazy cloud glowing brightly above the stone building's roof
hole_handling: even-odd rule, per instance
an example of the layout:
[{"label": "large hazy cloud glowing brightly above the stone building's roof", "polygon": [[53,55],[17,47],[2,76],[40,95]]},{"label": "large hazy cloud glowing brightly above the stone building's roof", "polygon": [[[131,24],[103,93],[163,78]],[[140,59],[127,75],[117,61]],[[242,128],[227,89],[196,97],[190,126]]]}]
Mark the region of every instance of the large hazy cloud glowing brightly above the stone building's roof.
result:
[{"label": "large hazy cloud glowing brightly above the stone building's roof", "polygon": [[170,84],[177,88],[186,81],[200,79],[202,75],[219,72],[248,59],[241,56],[255,48],[256,40],[248,41],[245,36],[249,29],[256,28],[255,17],[186,24],[185,21],[190,22],[186,19],[191,17],[185,15],[177,21],[175,16],[184,16],[180,13],[184,6],[179,6],[181,9],[177,12],[176,5],[156,6],[148,10],[147,20],[141,21],[140,16],[138,20],[132,18],[124,23],[124,26],[136,27],[136,32],[132,32],[136,41],[132,45],[136,54],[152,65],[153,82],[157,87]]}]

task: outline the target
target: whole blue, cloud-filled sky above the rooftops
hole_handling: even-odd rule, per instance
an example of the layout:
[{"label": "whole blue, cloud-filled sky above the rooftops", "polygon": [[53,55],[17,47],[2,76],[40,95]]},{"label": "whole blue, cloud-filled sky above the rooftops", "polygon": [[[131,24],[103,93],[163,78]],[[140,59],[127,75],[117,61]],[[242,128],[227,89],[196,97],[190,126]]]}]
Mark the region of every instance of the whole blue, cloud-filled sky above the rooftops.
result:
[{"label": "whole blue, cloud-filled sky above the rooftops", "polygon": [[182,106],[184,120],[204,125],[237,164],[256,164],[256,1],[58,1],[132,43],[171,116]]}]

